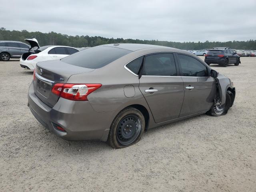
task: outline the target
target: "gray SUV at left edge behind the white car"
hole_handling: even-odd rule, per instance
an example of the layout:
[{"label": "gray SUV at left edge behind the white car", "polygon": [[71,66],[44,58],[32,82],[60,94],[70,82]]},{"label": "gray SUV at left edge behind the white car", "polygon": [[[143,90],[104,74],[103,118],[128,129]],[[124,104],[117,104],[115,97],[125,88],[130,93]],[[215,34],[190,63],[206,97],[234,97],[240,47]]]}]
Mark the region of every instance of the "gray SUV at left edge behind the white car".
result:
[{"label": "gray SUV at left edge behind the white car", "polygon": [[0,41],[0,60],[8,61],[10,58],[20,58],[28,52],[30,46],[18,41]]}]

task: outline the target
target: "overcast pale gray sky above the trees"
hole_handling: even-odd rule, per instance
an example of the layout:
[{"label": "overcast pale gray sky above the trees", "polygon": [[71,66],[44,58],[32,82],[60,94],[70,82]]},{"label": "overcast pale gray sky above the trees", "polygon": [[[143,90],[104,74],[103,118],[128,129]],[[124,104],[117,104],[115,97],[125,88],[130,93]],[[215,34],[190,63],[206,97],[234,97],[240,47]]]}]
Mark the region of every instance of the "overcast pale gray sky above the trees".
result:
[{"label": "overcast pale gray sky above the trees", "polygon": [[0,27],[167,41],[256,39],[256,0],[9,0]]}]

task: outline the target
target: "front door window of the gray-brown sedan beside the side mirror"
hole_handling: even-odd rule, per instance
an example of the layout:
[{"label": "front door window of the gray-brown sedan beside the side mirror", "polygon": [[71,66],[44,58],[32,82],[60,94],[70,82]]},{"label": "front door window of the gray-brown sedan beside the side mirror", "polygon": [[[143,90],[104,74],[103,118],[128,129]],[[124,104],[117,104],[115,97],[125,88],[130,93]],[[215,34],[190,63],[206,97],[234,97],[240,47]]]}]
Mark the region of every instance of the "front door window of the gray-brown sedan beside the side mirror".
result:
[{"label": "front door window of the gray-brown sedan beside the side mirror", "polygon": [[208,76],[207,68],[197,59],[183,54],[178,54],[182,76],[206,77]]}]

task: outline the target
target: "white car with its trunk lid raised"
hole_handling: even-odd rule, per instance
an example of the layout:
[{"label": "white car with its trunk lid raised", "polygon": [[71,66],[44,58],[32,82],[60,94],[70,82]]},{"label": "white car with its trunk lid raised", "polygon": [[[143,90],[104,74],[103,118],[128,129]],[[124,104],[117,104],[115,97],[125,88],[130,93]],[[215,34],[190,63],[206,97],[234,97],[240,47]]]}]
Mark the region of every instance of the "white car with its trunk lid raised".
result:
[{"label": "white car with its trunk lid raised", "polygon": [[35,38],[25,39],[25,41],[28,42],[31,47],[27,53],[22,54],[20,66],[30,70],[34,70],[38,62],[61,59],[79,52],[78,49],[68,46],[48,45],[40,47]]}]

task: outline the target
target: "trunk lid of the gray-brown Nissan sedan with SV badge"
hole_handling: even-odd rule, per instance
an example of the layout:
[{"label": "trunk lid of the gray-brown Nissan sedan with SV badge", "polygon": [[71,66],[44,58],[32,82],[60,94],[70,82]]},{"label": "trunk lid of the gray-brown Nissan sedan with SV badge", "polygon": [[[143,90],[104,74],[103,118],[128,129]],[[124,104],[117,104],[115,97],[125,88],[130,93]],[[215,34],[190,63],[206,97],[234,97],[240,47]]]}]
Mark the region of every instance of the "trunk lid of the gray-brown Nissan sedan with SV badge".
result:
[{"label": "trunk lid of the gray-brown Nissan sedan with SV badge", "polygon": [[59,96],[52,93],[55,83],[66,83],[73,74],[92,72],[94,69],[78,67],[62,62],[50,60],[36,64],[34,92],[42,102],[53,107]]}]

